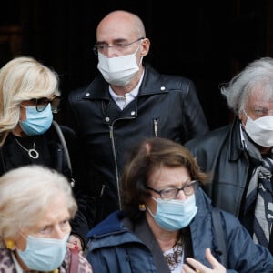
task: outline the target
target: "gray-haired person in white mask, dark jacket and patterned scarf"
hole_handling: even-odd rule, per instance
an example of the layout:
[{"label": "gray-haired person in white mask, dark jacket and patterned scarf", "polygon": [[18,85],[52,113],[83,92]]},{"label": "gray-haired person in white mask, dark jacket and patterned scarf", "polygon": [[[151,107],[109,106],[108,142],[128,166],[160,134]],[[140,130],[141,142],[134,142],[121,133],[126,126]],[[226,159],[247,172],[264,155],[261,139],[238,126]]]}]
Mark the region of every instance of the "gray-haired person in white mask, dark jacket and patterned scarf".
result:
[{"label": "gray-haired person in white mask, dark jacket and patterned scarf", "polygon": [[248,64],[221,88],[234,121],[186,147],[204,171],[215,206],[237,216],[253,240],[273,253],[273,59]]}]

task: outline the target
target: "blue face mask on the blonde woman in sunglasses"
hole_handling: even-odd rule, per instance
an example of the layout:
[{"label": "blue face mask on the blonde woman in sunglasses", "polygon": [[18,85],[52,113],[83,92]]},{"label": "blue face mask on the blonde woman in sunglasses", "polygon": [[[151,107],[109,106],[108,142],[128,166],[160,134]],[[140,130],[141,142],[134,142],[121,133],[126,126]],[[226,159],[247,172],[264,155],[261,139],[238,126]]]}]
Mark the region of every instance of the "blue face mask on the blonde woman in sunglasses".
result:
[{"label": "blue face mask on the blonde woman in sunglasses", "polygon": [[44,134],[52,124],[53,114],[51,105],[45,107],[45,110],[38,112],[36,106],[25,106],[26,119],[19,121],[22,130],[28,136]]}]

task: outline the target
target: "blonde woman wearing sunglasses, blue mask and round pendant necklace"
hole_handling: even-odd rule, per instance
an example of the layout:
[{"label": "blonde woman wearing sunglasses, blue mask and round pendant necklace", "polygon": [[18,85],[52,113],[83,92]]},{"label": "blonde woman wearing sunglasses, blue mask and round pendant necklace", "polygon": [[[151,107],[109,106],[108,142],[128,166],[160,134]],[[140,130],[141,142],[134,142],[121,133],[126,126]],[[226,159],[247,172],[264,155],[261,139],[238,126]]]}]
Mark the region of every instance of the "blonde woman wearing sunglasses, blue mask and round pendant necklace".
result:
[{"label": "blonde woman wearing sunglasses, blue mask and round pendant necklace", "polygon": [[[34,58],[15,57],[1,68],[0,175],[32,164],[69,174],[64,148],[52,126],[59,101],[56,73]],[[64,132],[72,139],[72,130]]]}]

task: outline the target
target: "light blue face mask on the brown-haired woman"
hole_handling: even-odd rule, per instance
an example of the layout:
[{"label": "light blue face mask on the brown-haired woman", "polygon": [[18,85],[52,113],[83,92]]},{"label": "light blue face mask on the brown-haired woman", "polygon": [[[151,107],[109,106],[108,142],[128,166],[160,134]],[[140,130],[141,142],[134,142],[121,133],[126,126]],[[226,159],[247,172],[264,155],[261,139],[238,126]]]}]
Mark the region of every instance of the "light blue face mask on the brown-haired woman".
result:
[{"label": "light blue face mask on the brown-haired woman", "polygon": [[157,213],[154,215],[147,207],[149,214],[154,217],[157,225],[169,231],[187,227],[197,214],[196,197],[191,195],[185,200],[162,200],[154,198],[157,202]]}]

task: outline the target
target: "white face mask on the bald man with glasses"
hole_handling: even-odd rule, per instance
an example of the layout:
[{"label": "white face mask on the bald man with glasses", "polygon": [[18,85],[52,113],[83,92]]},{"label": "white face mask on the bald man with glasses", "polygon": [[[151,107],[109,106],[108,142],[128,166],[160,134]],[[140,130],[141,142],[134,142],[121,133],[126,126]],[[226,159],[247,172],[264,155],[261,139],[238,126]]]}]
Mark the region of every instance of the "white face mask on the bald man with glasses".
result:
[{"label": "white face mask on the bald man with glasses", "polygon": [[[137,47],[138,51],[140,45]],[[142,58],[139,64],[136,63],[136,52],[125,56],[116,56],[107,58],[98,52],[97,68],[105,78],[106,82],[114,86],[126,86],[139,70]]]}]

